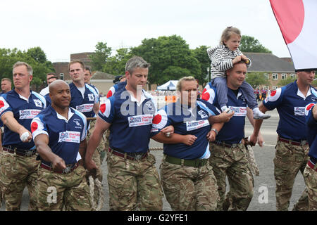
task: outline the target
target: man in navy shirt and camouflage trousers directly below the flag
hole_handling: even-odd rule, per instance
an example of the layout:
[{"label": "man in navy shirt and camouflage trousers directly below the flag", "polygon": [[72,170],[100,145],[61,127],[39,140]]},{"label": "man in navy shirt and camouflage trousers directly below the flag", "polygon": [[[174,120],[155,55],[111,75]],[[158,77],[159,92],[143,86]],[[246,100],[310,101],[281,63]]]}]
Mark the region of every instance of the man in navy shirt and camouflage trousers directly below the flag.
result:
[{"label": "man in navy shirt and camouflage trousers directly below the flag", "polygon": [[[308,162],[305,106],[317,101],[316,89],[311,86],[315,71],[298,71],[297,77],[295,82],[271,91],[259,106],[262,113],[276,108],[280,116],[274,158],[276,209],[279,211],[288,210],[294,179],[299,171],[304,172]],[[256,120],[250,137],[253,143],[261,124],[262,120]],[[305,190],[293,210],[308,210],[308,204]]]}]

